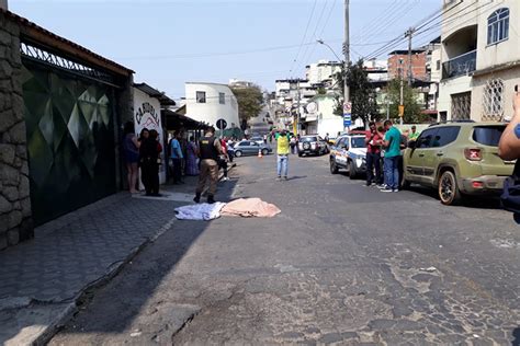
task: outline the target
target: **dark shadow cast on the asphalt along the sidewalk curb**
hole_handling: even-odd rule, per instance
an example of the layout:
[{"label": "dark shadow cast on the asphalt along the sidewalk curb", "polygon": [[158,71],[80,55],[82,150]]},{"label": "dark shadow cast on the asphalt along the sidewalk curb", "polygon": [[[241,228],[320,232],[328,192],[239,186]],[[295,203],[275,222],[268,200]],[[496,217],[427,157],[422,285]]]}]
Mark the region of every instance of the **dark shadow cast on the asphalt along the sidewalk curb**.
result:
[{"label": "dark shadow cast on the asphalt along the sidewalk curb", "polygon": [[[236,184],[236,181],[221,183],[217,199],[228,201]],[[89,344],[94,341],[91,338],[95,337],[93,335],[109,337],[110,342],[126,343],[127,339],[118,337],[128,337],[124,332],[136,324],[143,325],[144,333],[147,328],[157,327],[140,321],[143,315],[156,313],[144,310],[150,309],[150,303],[156,304],[149,300],[157,299],[155,295],[160,291],[161,282],[167,281],[167,276],[210,224],[205,221],[176,220],[170,230],[145,247],[108,285],[86,292],[78,303],[79,312],[50,345],[67,344],[69,338]],[[161,302],[157,304],[159,307]]]}]

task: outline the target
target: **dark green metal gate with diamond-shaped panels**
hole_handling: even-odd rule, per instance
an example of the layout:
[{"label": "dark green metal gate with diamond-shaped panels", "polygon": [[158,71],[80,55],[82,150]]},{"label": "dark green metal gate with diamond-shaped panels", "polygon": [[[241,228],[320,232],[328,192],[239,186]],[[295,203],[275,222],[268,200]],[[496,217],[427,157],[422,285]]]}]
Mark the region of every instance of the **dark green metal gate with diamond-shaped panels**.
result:
[{"label": "dark green metal gate with diamond-shaped panels", "polygon": [[36,224],[115,193],[112,86],[23,59]]}]

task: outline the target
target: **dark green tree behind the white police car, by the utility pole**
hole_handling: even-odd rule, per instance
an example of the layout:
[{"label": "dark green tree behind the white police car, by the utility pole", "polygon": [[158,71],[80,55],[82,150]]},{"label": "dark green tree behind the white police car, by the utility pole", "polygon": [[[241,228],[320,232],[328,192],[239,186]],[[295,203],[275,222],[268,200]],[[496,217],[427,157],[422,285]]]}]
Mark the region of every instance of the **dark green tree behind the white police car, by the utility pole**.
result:
[{"label": "dark green tree behind the white police car, by the utility pole", "polygon": [[[341,85],[341,95],[336,97],[337,115],[343,114],[343,71],[336,76]],[[363,60],[360,59],[355,65],[349,62],[347,73],[347,83],[350,86],[350,101],[352,102],[352,119],[361,118],[363,123],[377,120],[380,111],[377,108],[375,88],[369,81],[369,73],[363,68]]]}]

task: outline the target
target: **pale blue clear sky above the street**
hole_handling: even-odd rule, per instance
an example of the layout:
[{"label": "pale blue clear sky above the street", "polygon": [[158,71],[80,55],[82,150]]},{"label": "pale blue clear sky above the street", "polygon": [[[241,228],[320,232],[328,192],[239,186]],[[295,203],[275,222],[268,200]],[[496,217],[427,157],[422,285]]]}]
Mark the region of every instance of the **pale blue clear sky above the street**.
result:
[{"label": "pale blue clear sky above the street", "polygon": [[[9,10],[136,73],[172,99],[184,82],[236,78],[272,91],[276,79],[304,78],[305,66],[342,57],[343,0],[9,0]],[[385,43],[410,26],[439,36],[442,0],[350,0],[351,59],[386,59]]]}]

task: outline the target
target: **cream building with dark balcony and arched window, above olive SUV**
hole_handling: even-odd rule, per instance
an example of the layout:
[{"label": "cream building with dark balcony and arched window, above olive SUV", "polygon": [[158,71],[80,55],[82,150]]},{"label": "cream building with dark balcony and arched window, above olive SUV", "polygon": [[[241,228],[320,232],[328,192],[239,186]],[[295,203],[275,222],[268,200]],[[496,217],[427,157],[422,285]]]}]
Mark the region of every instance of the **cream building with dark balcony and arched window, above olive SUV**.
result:
[{"label": "cream building with dark balcony and arched window, above olive SUV", "polygon": [[497,122],[512,116],[515,85],[520,84],[519,32],[518,0],[444,0],[441,118]]}]

